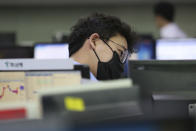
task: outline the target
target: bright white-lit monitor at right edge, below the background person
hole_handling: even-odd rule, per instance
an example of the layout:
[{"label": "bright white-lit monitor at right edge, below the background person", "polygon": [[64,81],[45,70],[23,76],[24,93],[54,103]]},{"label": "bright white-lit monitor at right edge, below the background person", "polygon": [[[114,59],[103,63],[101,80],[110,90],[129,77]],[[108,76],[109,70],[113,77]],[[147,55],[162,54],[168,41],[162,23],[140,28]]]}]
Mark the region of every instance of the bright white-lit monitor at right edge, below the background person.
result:
[{"label": "bright white-lit monitor at right edge, below the background person", "polygon": [[196,59],[196,39],[159,39],[156,42],[156,59]]}]

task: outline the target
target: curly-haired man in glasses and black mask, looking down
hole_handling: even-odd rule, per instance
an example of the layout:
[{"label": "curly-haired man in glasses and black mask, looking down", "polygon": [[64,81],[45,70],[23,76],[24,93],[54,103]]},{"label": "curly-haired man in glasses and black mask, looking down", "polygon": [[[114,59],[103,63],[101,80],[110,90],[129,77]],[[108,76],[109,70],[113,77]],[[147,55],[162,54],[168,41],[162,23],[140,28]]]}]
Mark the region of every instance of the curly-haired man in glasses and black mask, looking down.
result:
[{"label": "curly-haired man in glasses and black mask, looking down", "polygon": [[135,33],[118,18],[93,14],[72,27],[69,53],[76,63],[88,65],[98,80],[118,79],[134,40]]}]

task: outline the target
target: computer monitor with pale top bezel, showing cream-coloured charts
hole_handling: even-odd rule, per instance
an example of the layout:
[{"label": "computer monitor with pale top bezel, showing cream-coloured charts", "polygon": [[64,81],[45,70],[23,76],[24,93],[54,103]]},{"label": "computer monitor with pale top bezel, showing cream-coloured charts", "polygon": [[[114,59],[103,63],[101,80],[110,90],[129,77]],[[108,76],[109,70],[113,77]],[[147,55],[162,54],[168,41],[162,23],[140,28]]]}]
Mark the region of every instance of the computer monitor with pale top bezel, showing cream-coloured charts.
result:
[{"label": "computer monitor with pale top bezel, showing cream-coloured charts", "polygon": [[[71,84],[77,84],[79,77],[79,79],[81,77],[89,78],[89,68],[85,65],[74,65],[71,59],[1,59],[0,67],[0,119],[3,119],[5,112],[9,114],[5,116],[6,119],[8,116],[9,118],[21,118],[25,113],[28,114],[28,118],[39,118],[39,112],[35,113],[38,109],[32,104],[34,93],[35,95],[37,94],[36,88],[46,87],[44,89],[47,90],[50,88],[49,86],[64,87],[70,84],[70,82]],[[62,71],[65,72],[63,73]],[[72,71],[79,74],[72,74]],[[29,87],[29,90],[26,90],[27,87]],[[24,110],[26,108],[26,100],[32,100],[30,107],[28,106],[28,111]],[[15,110],[12,110],[15,108],[20,108],[20,110],[17,110],[21,114],[20,116],[14,113]],[[10,110],[4,111],[4,109]],[[31,110],[31,113],[29,110]],[[2,116],[1,114],[4,115]]]}]

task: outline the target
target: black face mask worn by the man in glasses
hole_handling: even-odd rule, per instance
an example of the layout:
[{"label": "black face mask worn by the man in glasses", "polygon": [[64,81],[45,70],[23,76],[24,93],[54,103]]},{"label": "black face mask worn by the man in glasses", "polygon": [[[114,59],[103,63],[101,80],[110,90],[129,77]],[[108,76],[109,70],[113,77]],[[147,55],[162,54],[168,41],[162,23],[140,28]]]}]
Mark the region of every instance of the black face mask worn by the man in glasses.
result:
[{"label": "black face mask worn by the man in glasses", "polygon": [[98,80],[111,80],[121,78],[121,74],[124,68],[116,51],[113,51],[113,57],[109,62],[101,62],[98,56],[97,59],[99,60],[97,68]]}]

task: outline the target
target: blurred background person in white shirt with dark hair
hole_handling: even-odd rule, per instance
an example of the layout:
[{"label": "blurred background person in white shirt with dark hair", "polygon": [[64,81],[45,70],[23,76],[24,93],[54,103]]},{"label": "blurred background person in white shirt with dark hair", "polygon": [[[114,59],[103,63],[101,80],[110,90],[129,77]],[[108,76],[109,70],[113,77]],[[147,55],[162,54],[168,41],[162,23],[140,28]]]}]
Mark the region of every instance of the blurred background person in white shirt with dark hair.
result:
[{"label": "blurred background person in white shirt with dark hair", "polygon": [[160,28],[161,38],[185,38],[186,34],[174,23],[175,9],[169,2],[160,2],[154,6],[155,21]]}]

